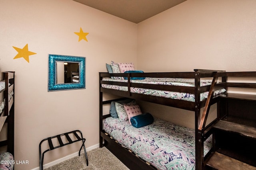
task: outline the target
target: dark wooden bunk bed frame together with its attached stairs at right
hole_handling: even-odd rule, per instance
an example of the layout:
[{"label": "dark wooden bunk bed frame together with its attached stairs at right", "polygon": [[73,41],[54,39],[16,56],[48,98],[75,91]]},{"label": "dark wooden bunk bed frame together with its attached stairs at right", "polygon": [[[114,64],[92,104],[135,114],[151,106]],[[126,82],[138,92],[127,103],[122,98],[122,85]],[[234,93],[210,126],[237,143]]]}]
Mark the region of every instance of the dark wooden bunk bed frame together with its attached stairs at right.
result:
[{"label": "dark wooden bunk bed frame together with its attached stairs at right", "polygon": [[[103,77],[126,76],[129,83],[102,81]],[[194,78],[195,87],[184,86],[162,86],[153,84],[130,83],[131,77],[158,77],[158,78]],[[200,87],[200,78],[212,77],[212,85]],[[248,82],[246,79],[254,78]],[[221,83],[217,84],[217,80]],[[235,78],[231,80],[231,78]],[[238,78],[238,80],[236,80]],[[103,119],[110,117],[110,114],[103,115],[102,107],[115,100],[103,101],[103,93],[114,94],[125,98],[144,100],[166,106],[178,107],[181,109],[194,111],[195,114],[195,140],[196,140],[196,170],[216,170],[221,169],[252,169],[256,170],[255,141],[256,141],[256,95],[240,94],[230,90],[224,94],[213,97],[212,92],[219,88],[252,89],[256,90],[256,71],[253,72],[225,72],[218,70],[198,70],[194,72],[167,72],[167,73],[130,73],[130,74],[108,74],[100,72],[100,147],[106,147],[119,160],[130,169],[153,170],[144,160],[138,158],[133,152],[122,147],[118,142],[105,133],[103,129]],[[242,82],[241,82],[242,81]],[[113,84],[128,86],[128,92],[102,88],[101,84]],[[151,88],[158,90],[189,92],[195,95],[195,102],[187,102],[176,99],[149,96],[130,92],[130,87]],[[254,91],[253,91],[254,90]],[[209,91],[208,98],[200,102],[200,93]],[[250,91],[250,90],[249,90]],[[117,99],[120,100],[120,99]],[[217,118],[206,126],[206,120],[210,106],[217,103]],[[204,107],[202,115],[200,109]],[[223,135],[224,134],[224,135]],[[212,149],[203,156],[203,143],[212,135]],[[228,137],[226,137],[228,136]],[[232,139],[229,139],[232,137]],[[230,141],[231,140],[231,141]],[[233,141],[238,141],[232,144]],[[231,142],[230,144],[227,141]],[[239,146],[238,146],[239,145]],[[249,154],[248,154],[249,153]],[[230,164],[230,162],[232,162]]]}]

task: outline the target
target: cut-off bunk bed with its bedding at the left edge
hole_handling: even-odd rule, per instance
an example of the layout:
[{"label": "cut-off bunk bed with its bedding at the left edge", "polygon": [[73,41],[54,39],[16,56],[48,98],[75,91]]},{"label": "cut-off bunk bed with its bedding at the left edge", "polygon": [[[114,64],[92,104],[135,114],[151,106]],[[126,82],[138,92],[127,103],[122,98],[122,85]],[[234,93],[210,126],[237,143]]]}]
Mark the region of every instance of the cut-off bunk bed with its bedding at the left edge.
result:
[{"label": "cut-off bunk bed with its bedding at the left edge", "polygon": [[[0,131],[7,124],[7,139],[0,141],[0,169],[14,169],[14,72],[0,73]],[[3,133],[4,134],[4,133]],[[6,137],[4,137],[6,138]],[[7,147],[7,148],[6,148]],[[2,149],[1,149],[2,150]],[[2,164],[4,161],[4,164]]]}]

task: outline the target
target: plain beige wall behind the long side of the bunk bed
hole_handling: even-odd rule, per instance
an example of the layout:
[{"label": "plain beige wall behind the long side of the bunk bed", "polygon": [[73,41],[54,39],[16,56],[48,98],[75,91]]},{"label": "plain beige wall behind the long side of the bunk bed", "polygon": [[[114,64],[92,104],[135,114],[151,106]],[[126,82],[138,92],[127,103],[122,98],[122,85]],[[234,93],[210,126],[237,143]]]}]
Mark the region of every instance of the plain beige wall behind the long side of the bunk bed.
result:
[{"label": "plain beige wall behind the long side of the bunk bed", "polygon": [[[138,23],[138,68],[255,71],[255,9],[255,0],[187,0]],[[193,112],[156,104],[144,110],[194,128]]]}]

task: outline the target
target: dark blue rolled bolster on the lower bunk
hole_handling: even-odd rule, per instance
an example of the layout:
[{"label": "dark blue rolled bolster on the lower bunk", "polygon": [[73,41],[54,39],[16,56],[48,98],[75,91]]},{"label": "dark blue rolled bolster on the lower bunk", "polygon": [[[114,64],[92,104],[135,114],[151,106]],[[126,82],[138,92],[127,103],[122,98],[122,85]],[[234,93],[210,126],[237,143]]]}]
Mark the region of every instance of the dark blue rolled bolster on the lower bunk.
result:
[{"label": "dark blue rolled bolster on the lower bunk", "polygon": [[132,126],[134,127],[143,127],[146,125],[150,125],[154,121],[154,117],[150,113],[145,113],[142,115],[136,115],[130,118]]}]

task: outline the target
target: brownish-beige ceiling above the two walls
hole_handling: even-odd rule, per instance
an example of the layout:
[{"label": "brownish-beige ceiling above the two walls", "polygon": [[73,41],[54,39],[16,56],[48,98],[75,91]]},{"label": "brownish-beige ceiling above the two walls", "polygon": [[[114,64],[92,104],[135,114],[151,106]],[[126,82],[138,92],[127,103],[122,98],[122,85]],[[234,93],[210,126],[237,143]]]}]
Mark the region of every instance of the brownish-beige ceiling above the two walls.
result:
[{"label": "brownish-beige ceiling above the two walls", "polygon": [[144,21],[186,0],[74,0],[134,23]]}]

